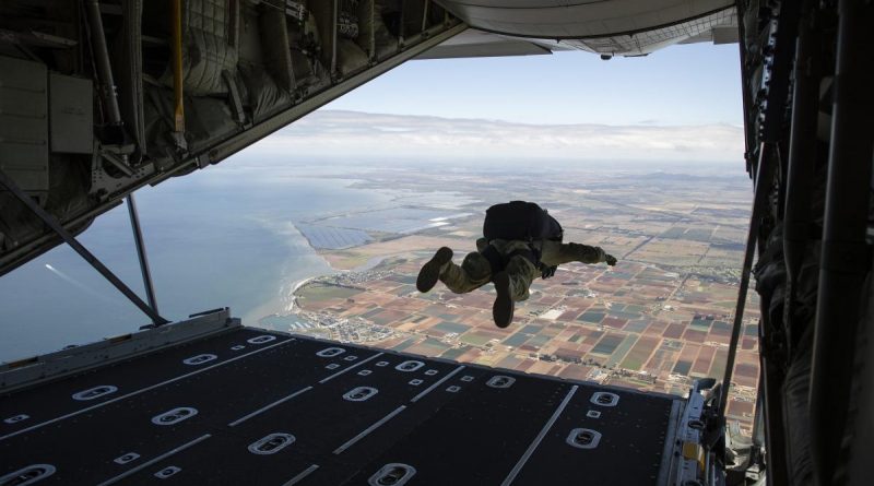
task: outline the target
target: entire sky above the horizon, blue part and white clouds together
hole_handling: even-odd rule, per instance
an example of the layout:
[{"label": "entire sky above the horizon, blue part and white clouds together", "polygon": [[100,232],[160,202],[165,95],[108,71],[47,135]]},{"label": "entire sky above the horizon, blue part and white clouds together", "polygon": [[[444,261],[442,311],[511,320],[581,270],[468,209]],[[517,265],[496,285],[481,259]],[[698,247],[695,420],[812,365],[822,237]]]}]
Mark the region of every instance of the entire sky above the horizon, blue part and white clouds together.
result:
[{"label": "entire sky above the horizon, blue part and white clouds together", "polygon": [[410,61],[245,153],[740,168],[742,123],[736,45],[672,46],[607,61],[565,51]]}]

